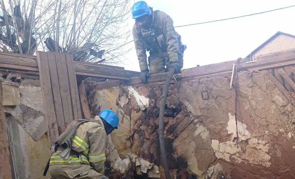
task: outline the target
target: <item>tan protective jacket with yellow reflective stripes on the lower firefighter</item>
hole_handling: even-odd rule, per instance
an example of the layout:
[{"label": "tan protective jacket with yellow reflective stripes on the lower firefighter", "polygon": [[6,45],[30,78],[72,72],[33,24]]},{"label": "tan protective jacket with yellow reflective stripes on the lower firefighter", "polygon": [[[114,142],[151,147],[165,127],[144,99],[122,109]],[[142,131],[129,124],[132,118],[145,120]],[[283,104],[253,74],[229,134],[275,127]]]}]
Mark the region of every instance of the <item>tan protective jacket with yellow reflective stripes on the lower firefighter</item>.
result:
[{"label": "tan protective jacket with yellow reflective stripes on the lower firefighter", "polygon": [[[76,128],[68,159],[61,155],[65,147],[59,146],[50,158],[50,165],[85,164],[90,165],[98,173],[104,173],[107,134],[100,117],[96,116],[94,119],[97,122],[84,122]],[[75,128],[70,127],[68,130]]]}]

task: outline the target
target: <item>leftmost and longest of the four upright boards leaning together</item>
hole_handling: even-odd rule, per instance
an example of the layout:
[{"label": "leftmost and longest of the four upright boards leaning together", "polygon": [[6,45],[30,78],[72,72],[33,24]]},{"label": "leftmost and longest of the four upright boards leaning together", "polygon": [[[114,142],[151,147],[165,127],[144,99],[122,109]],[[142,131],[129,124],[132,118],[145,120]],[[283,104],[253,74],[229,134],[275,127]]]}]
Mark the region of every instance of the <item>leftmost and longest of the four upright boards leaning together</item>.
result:
[{"label": "leftmost and longest of the four upright boards leaning together", "polygon": [[45,118],[47,121],[47,134],[51,145],[57,140],[59,133],[57,119],[53,105],[52,87],[50,81],[48,57],[45,52],[37,52],[37,61],[40,70],[40,84],[43,94],[43,103],[45,106]]}]

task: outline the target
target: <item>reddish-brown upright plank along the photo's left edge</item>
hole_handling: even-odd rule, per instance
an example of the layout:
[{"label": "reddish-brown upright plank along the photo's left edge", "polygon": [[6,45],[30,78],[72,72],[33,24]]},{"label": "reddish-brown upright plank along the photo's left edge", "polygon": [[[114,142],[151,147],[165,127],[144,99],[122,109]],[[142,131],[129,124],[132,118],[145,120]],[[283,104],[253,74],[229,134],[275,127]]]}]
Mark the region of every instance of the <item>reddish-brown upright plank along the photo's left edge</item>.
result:
[{"label": "reddish-brown upright plank along the photo's left edge", "polygon": [[11,164],[10,164],[10,152],[9,152],[9,144],[8,144],[8,135],[7,135],[7,124],[6,118],[3,111],[2,106],[2,84],[0,80],[0,178],[12,178],[11,173]]}]

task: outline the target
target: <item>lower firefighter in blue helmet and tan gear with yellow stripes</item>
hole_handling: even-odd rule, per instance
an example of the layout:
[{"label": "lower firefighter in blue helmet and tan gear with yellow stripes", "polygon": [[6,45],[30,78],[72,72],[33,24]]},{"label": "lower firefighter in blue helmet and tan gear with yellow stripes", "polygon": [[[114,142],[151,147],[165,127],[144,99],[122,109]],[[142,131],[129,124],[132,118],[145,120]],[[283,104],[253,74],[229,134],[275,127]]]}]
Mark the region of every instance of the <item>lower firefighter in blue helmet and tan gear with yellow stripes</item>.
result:
[{"label": "lower firefighter in blue helmet and tan gear with yellow stripes", "polygon": [[107,135],[118,124],[117,114],[108,109],[94,119],[73,120],[59,136],[50,157],[52,179],[108,179],[104,176]]}]

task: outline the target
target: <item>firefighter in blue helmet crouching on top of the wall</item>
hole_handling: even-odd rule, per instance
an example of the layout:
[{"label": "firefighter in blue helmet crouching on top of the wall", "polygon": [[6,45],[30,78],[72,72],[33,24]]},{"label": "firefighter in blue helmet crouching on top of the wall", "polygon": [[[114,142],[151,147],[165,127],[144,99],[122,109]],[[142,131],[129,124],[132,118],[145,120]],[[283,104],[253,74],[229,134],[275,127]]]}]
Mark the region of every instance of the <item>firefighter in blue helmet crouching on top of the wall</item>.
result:
[{"label": "firefighter in blue helmet crouching on top of the wall", "polygon": [[[171,67],[175,68],[175,73],[181,73],[186,45],[182,45],[170,16],[138,1],[132,6],[132,18],[135,19],[133,39],[141,82],[146,83],[150,74],[166,72]],[[146,51],[150,53],[148,62]]]}]

